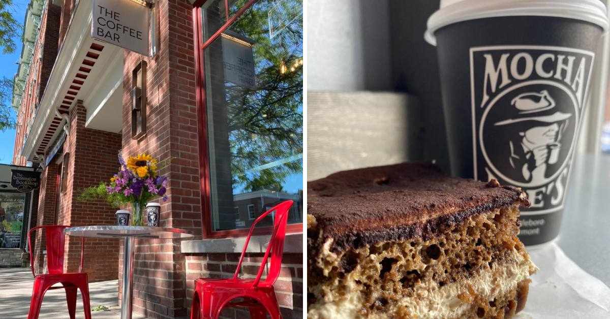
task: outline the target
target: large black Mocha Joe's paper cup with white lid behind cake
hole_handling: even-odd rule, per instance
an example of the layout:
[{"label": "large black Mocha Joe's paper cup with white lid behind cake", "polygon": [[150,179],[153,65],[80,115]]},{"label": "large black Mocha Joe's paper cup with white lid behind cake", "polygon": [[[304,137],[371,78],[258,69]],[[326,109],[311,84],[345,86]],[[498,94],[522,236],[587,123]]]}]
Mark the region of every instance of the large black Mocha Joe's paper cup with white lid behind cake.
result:
[{"label": "large black Mocha Joe's paper cup with white lid behind cake", "polygon": [[452,173],[523,188],[525,245],[559,234],[607,26],[598,0],[445,0],[428,21]]}]

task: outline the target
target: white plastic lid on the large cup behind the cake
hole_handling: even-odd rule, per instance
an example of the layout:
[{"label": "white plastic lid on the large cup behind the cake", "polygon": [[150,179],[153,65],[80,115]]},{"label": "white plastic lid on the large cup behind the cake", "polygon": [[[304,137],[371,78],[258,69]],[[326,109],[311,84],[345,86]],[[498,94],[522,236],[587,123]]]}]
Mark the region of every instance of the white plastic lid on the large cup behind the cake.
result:
[{"label": "white plastic lid on the large cup behind the cake", "polygon": [[600,0],[441,0],[428,19],[425,40],[436,45],[436,30],[449,24],[495,16],[556,16],[583,20],[608,29],[606,6]]}]

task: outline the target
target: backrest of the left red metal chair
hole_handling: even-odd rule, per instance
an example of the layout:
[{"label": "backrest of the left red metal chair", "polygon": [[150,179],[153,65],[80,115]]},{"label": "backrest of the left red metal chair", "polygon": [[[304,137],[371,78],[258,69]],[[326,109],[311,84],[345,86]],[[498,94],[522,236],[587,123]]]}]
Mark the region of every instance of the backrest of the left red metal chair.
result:
[{"label": "backrest of the left red metal chair", "polygon": [[[34,273],[34,258],[32,257],[32,232],[36,229],[45,229],[46,235],[46,265],[49,270],[49,274],[63,274],[63,252],[66,242],[65,234],[63,234],[63,229],[70,228],[72,226],[62,226],[62,225],[49,225],[49,226],[38,226],[30,229],[27,232],[27,245],[29,247],[30,253],[30,268],[32,269],[32,274],[36,276]],[[83,245],[84,238],[81,238],[81,265],[79,268],[79,272],[82,272],[82,264],[83,264]]]}]

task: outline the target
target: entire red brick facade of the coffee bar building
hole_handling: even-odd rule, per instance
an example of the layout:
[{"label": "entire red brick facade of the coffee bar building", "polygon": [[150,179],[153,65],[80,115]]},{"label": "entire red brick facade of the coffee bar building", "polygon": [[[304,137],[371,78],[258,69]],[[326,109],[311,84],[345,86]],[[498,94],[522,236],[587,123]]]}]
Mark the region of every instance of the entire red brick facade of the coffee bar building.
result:
[{"label": "entire red brick facade of the coffee bar building", "polygon": [[[193,239],[201,239],[204,225],[199,161],[207,159],[199,159],[193,7],[185,0],[158,0],[155,5],[159,10],[156,56],[148,58],[124,51],[121,134],[87,129],[85,106],[77,101],[71,107],[68,114],[70,129],[63,148],[42,173],[38,225],[114,224],[116,209],[103,201],[82,203],[77,196],[82,188],[107,181],[117,171],[118,152],[123,157],[146,152],[162,162],[169,162],[159,172],[168,177],[168,200],[161,203],[160,226],[186,229],[197,236]],[[56,9],[55,34],[56,41],[61,45],[61,39],[68,30],[66,21],[70,20],[72,1],[65,0],[62,9]],[[134,140],[131,134],[132,70],[142,60],[148,65],[148,125],[146,134]],[[19,154],[18,150],[16,154]],[[65,161],[68,165],[63,165]],[[65,190],[58,189],[62,167],[66,167]],[[37,265],[40,264],[40,267],[43,266],[41,243],[43,241],[38,240],[35,245]],[[122,242],[87,238],[85,243],[85,271],[91,281],[116,279],[117,274],[121,278],[122,267],[118,266],[123,262],[120,253]],[[79,245],[79,238],[66,238],[66,271],[76,270]],[[237,253],[185,254],[181,251],[181,240],[138,239],[134,251],[134,312],[149,318],[187,316],[194,279],[229,277],[239,258]],[[261,257],[261,254],[248,255],[242,268],[243,276],[253,276]],[[301,318],[302,254],[285,253],[282,265],[275,286],[282,315],[284,318]],[[120,279],[119,298],[122,297],[121,285]],[[226,310],[224,315],[231,318],[245,316],[243,312],[231,309]]]}]

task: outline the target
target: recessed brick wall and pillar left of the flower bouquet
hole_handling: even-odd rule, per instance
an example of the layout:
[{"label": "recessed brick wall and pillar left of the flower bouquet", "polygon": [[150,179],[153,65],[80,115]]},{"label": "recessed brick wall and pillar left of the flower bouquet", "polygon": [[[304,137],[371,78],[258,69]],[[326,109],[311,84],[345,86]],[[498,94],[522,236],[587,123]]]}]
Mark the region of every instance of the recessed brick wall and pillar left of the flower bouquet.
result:
[{"label": "recessed brick wall and pillar left of the flower bouquet", "polygon": [[[107,181],[116,173],[117,154],[121,148],[120,134],[85,127],[86,112],[82,102],[77,101],[70,112],[70,134],[66,137],[62,150],[41,174],[37,226],[56,223],[72,226],[115,224],[116,209],[106,202],[98,200],[85,203],[77,200],[83,188]],[[58,163],[60,160],[62,162]],[[66,187],[62,191],[58,189],[57,181],[63,161],[66,160]],[[35,237],[37,273],[44,272],[43,232],[37,231]],[[117,279],[118,248],[117,239],[85,239],[84,271],[89,274],[89,281]],[[64,271],[77,271],[80,258],[81,238],[66,237]]]}]

